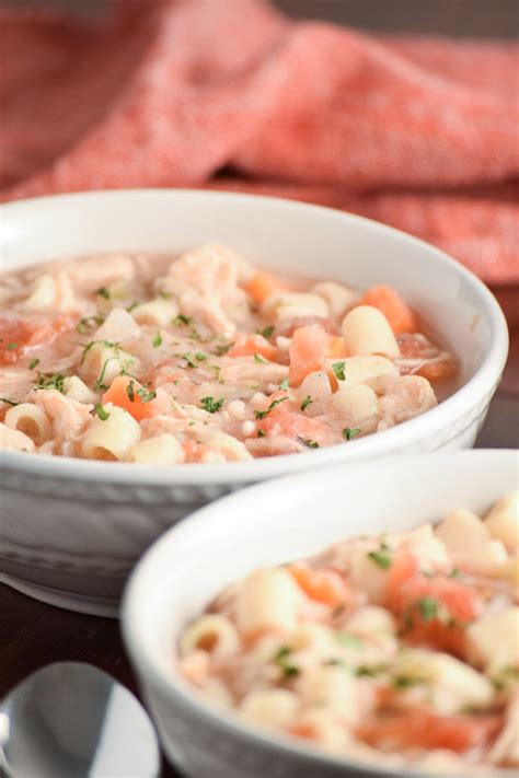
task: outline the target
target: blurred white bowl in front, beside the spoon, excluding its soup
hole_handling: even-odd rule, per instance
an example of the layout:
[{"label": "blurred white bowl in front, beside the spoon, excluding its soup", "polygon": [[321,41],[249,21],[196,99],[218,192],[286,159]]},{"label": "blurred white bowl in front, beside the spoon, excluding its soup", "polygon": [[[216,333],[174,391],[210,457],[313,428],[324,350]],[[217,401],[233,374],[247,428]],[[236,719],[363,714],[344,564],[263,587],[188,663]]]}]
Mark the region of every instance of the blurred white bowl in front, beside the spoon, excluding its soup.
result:
[{"label": "blurred white bowl in front, beside the spoon, excluding its soup", "polygon": [[517,488],[518,465],[512,451],[341,465],[254,486],[168,532],[131,576],[123,632],[169,759],[196,778],[384,775],[270,738],[206,706],[176,669],[181,630],[223,587],[257,567],[312,555],[348,536],[408,530],[459,506],[482,513]]}]

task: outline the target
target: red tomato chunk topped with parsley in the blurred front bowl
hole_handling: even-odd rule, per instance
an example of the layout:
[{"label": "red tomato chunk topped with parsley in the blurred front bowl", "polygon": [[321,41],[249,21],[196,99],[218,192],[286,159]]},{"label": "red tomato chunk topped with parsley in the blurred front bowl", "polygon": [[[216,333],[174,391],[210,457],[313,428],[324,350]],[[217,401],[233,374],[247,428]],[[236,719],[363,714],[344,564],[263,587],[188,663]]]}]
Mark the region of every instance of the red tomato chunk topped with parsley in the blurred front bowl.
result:
[{"label": "red tomato chunk topped with parsley in the blurred front bowl", "polygon": [[[426,597],[432,601],[437,614],[424,615],[420,603]],[[464,627],[481,612],[480,599],[470,587],[443,574],[425,576],[417,559],[406,550],[394,555],[387,604],[400,616],[406,641],[458,655],[464,653]]]}]

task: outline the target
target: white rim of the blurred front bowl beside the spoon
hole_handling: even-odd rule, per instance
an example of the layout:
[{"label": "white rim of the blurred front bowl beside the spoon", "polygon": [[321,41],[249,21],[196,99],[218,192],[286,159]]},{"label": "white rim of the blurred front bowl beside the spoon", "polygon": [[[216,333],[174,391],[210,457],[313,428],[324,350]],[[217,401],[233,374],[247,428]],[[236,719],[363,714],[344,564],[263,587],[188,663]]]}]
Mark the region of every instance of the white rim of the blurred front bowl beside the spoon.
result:
[{"label": "white rim of the blurred front bowl beside the spoon", "polygon": [[[429,460],[429,462],[434,460],[439,461],[439,458],[441,458],[442,462],[450,461],[451,465],[449,466],[449,472],[455,473],[455,464],[460,456],[465,458],[471,457],[474,462],[474,468],[477,467],[477,461],[482,462],[487,456],[514,456],[516,468],[519,468],[519,453],[515,450],[429,452],[420,454],[419,460],[422,462],[427,460]],[[396,458],[388,457],[385,460],[380,460],[376,466],[383,468],[385,462],[388,468],[400,468],[402,466],[404,472],[410,472],[410,468],[415,461],[416,457],[412,454],[400,454]],[[362,475],[362,473],[369,472],[372,467],[373,462],[362,462],[353,466],[356,475]],[[334,468],[328,468],[327,474],[330,475],[333,471],[341,472],[341,466],[338,465]],[[243,507],[245,499],[253,504],[264,504],[264,500],[262,498],[268,497],[272,492],[279,493],[280,491],[290,491],[292,493],[298,493],[300,491],[299,487],[302,489],[307,489],[309,487],[308,477],[307,473],[301,473],[296,476],[276,478],[272,481],[250,486],[245,490],[229,495],[212,504],[201,508],[192,515],[189,521],[172,527],[164,533],[164,535],[162,535],[162,537],[159,538],[150,549],[148,549],[145,556],[134,568],[124,592],[122,630],[126,649],[130,654],[134,665],[138,669],[139,674],[151,678],[152,684],[155,687],[165,690],[169,696],[173,694],[182,700],[182,705],[186,706],[197,718],[200,719],[200,725],[204,725],[204,723],[207,722],[207,724],[211,724],[214,727],[216,725],[229,734],[238,732],[244,741],[249,741],[260,746],[268,745],[280,755],[284,753],[289,753],[295,756],[303,755],[304,758],[310,760],[311,764],[314,764],[315,767],[326,767],[330,765],[343,768],[348,767],[349,769],[355,769],[359,777],[362,775],[373,776],[376,774],[380,774],[381,776],[393,776],[393,778],[396,775],[410,775],[414,778],[417,775],[416,769],[413,770],[412,768],[408,768],[404,769],[402,773],[395,773],[394,769],[385,768],[383,765],[356,762],[354,759],[346,759],[331,754],[321,753],[320,751],[308,746],[304,741],[299,743],[298,741],[292,741],[289,738],[276,738],[275,735],[270,735],[268,730],[262,730],[260,727],[255,728],[253,724],[247,724],[232,711],[219,708],[216,705],[211,706],[210,704],[206,704],[204,697],[194,692],[187,682],[182,678],[180,673],[175,674],[173,671],[165,671],[164,664],[158,659],[158,655],[161,652],[150,652],[148,650],[147,640],[140,630],[140,615],[143,608],[147,608],[147,600],[145,601],[140,596],[140,589],[142,584],[145,590],[149,588],[150,579],[152,579],[154,570],[162,570],[165,561],[168,561],[169,565],[173,564],[171,558],[173,538],[175,541],[175,545],[178,545],[178,543],[182,543],[184,538],[188,539],[188,537],[195,532],[198,535],[203,535],[206,524],[212,525],[215,520],[218,520],[218,518],[224,513],[232,515],[235,513],[234,506]],[[312,476],[312,478],[315,478],[315,476]],[[215,515],[215,513],[217,515]],[[432,773],[420,773],[419,775],[423,775],[424,778],[425,776],[429,776],[430,778],[435,778],[436,776],[436,774]],[[488,774],[487,778],[504,778],[504,776],[507,775],[511,776],[511,770],[499,769]],[[437,778],[440,778],[440,776]],[[459,777],[442,773],[441,778]]]}]

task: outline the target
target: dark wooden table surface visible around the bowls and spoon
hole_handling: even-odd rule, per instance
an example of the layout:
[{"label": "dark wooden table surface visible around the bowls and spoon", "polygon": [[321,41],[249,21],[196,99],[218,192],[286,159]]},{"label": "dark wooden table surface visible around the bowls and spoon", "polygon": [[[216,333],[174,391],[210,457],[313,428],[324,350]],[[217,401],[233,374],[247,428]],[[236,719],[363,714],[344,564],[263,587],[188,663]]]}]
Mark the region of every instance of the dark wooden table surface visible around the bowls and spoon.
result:
[{"label": "dark wooden table surface visible around the bowls and spoon", "polygon": [[[519,287],[495,290],[510,328],[510,358],[480,434],[481,448],[519,445]],[[90,662],[137,692],[117,622],[44,605],[0,585],[0,698],[49,662]],[[164,765],[164,778],[177,774]]]}]

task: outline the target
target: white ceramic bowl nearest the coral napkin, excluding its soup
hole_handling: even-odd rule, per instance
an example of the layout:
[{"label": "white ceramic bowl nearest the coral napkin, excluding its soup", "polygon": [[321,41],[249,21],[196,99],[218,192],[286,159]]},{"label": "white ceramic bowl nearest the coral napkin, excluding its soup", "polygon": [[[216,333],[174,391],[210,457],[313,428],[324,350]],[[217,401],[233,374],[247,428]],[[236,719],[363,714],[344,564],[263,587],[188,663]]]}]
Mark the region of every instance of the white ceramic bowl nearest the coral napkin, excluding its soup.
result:
[{"label": "white ceramic bowl nearest the coral napkin, excluding its soup", "polygon": [[471,446],[507,355],[495,299],[461,265],[358,217],[245,195],[134,190],[26,200],[1,209],[2,269],[106,251],[180,252],[220,241],[275,270],[385,281],[434,323],[461,360],[463,386],[391,430],[304,455],[149,467],[2,456],[0,581],[91,613],[116,613],[124,581],[165,529],[246,484],[391,452]]}]

